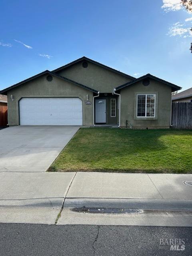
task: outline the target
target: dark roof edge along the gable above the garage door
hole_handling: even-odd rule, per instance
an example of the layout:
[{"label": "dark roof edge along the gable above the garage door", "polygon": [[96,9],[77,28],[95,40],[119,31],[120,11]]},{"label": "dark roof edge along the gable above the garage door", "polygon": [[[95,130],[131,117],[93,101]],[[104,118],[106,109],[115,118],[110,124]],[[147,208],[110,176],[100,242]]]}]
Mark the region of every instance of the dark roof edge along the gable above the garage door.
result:
[{"label": "dark roof edge along the gable above the garage door", "polygon": [[30,77],[30,78],[27,78],[27,79],[23,80],[22,82],[19,82],[19,83],[14,84],[14,85],[12,85],[12,86],[10,86],[10,87],[4,89],[4,90],[1,90],[0,93],[7,93],[8,90],[10,90],[10,89],[12,89],[12,88],[15,88],[15,87],[17,87],[17,86],[19,86],[19,85],[21,85],[21,84],[24,84],[24,83],[26,83],[26,82],[28,82],[28,81],[30,81],[30,80],[33,80],[34,78],[37,78],[37,77],[39,77],[39,76],[42,76],[42,75],[44,75],[44,74],[51,74],[51,75],[53,75],[53,76],[56,76],[56,77],[58,77],[58,78],[61,78],[61,79],[65,80],[65,81],[67,81],[67,82],[71,82],[72,84],[76,84],[76,85],[78,85],[78,86],[80,86],[80,87],[83,87],[83,88],[85,88],[85,89],[87,89],[87,90],[90,90],[90,91],[92,91],[92,92],[98,93],[97,90],[94,90],[94,89],[92,89],[92,88],[90,88],[90,87],[88,87],[88,86],[86,86],[86,85],[84,85],[84,84],[80,84],[80,83],[78,83],[78,82],[75,82],[75,81],[73,81],[73,80],[70,80],[70,79],[68,79],[68,78],[66,78],[66,77],[64,77],[64,76],[60,76],[60,75],[58,75],[58,74],[55,74],[54,72],[49,71],[49,70],[45,70],[45,71],[43,71],[43,72],[41,72],[41,73],[39,73],[39,74],[37,74],[37,75],[35,75],[35,76],[32,76],[32,77]]}]

